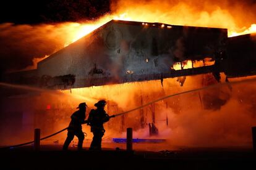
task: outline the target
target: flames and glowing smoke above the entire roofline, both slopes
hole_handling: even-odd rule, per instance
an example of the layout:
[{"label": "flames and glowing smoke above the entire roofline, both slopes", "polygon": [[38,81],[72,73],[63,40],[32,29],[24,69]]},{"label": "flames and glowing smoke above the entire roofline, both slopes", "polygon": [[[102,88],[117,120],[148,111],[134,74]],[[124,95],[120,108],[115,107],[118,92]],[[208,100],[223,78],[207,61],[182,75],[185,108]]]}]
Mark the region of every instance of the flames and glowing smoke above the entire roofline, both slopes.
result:
[{"label": "flames and glowing smoke above the entire roofline, both slopes", "polygon": [[[227,3],[226,3],[227,2]],[[167,1],[150,0],[120,0],[111,5],[111,13],[90,21],[65,22],[41,25],[0,25],[0,36],[6,49],[2,52],[11,57],[19,54],[27,63],[32,63],[35,57],[43,58],[51,55],[72,42],[91,33],[96,28],[110,20],[129,20],[142,22],[159,22],[170,25],[205,26],[214,28],[228,28],[228,36],[256,33],[255,6],[236,2],[234,5],[226,1]],[[231,5],[232,4],[232,5]],[[252,11],[252,12],[250,12]],[[163,25],[163,27],[165,27]],[[166,26],[168,29],[168,26]],[[30,46],[30,48],[27,48]],[[28,56],[27,56],[28,55]],[[38,60],[39,61],[39,60]],[[195,65],[197,65],[195,63]],[[195,67],[194,63],[193,66]],[[200,64],[202,65],[202,64]],[[26,63],[23,67],[27,67]],[[36,68],[36,64],[32,68]]]}]

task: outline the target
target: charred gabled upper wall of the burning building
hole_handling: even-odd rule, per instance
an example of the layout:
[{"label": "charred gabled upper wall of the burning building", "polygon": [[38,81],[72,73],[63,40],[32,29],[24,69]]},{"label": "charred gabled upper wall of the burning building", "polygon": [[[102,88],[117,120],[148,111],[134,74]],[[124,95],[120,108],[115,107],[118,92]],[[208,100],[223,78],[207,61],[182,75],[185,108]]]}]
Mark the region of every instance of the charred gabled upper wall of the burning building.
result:
[{"label": "charred gabled upper wall of the burning building", "polygon": [[221,28],[111,20],[12,83],[69,89],[221,72],[227,37]]}]

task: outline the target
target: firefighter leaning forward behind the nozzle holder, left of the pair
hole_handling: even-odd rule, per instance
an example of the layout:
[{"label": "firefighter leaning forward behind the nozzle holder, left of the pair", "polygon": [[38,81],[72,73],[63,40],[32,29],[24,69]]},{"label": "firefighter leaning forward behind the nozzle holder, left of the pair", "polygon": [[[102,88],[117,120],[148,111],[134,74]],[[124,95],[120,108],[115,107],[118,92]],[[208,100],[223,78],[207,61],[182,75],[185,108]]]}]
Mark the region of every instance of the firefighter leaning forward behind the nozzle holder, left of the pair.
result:
[{"label": "firefighter leaning forward behind the nozzle holder, left of the pair", "polygon": [[71,121],[69,123],[69,127],[67,128],[67,139],[64,142],[63,150],[67,150],[69,147],[70,142],[74,139],[74,136],[77,136],[79,139],[77,149],[82,150],[83,147],[83,139],[85,139],[82,131],[82,125],[87,123],[85,120],[85,111],[87,108],[86,103],[80,103],[79,104],[79,110],[75,111],[71,118]]}]

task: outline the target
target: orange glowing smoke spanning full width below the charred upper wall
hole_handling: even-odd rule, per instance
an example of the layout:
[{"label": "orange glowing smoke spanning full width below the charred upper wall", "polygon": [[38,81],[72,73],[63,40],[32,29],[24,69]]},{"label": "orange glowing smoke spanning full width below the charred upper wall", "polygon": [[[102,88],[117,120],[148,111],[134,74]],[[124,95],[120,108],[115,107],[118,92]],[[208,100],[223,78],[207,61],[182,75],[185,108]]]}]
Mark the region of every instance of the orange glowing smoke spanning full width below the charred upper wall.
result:
[{"label": "orange glowing smoke spanning full width below the charred upper wall", "polygon": [[[221,81],[224,81],[223,76],[221,78]],[[171,150],[175,147],[251,147],[251,127],[256,126],[256,81],[255,76],[253,81],[246,81],[247,79],[249,78],[229,79],[229,85],[216,84],[203,91],[177,95],[156,102],[155,124],[159,135],[151,138],[166,139],[166,142],[135,145],[135,149],[136,147],[142,150]],[[90,109],[95,108],[94,103],[105,99],[108,102],[105,110],[109,115],[114,115],[169,94],[204,87],[203,81],[203,76],[197,75],[187,76],[182,87],[179,86],[176,78],[169,78],[164,79],[163,87],[160,81],[148,81],[72,89],[72,93],[70,91],[35,92],[26,89],[28,94],[24,94],[22,89],[18,89],[15,91],[16,95],[13,95],[14,89],[1,88],[2,94],[9,91],[12,95],[6,98],[1,95],[0,145],[31,140],[35,127],[41,128],[41,136],[63,129],[68,126],[70,115],[80,102],[87,102],[88,116]],[[244,82],[234,84],[233,81]],[[229,86],[232,86],[232,90]],[[221,99],[224,102],[205,100],[203,98],[205,95],[211,95],[210,98]],[[47,110],[47,105],[51,105],[51,109]],[[149,105],[141,110],[110,119],[105,124],[103,147],[119,146],[115,143],[109,144],[107,141],[113,137],[126,137],[127,127],[134,129],[135,138],[150,138],[148,123],[153,121],[152,111],[152,105]],[[83,125],[83,131],[88,134],[86,139],[91,140],[90,127]],[[59,140],[59,144],[63,144],[65,137],[66,133],[63,132],[46,142],[53,144],[53,141]],[[85,142],[85,146],[88,145],[88,142]],[[121,147],[125,148],[125,146]]]}]

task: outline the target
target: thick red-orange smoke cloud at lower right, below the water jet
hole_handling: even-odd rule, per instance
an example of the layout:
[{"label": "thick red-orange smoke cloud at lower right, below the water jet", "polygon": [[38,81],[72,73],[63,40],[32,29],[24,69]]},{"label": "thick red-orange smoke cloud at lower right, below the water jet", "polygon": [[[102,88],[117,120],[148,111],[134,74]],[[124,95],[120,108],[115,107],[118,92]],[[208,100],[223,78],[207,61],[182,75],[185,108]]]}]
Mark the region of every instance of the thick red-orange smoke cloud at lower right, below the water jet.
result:
[{"label": "thick red-orange smoke cloud at lower right, below the water jet", "polygon": [[[250,84],[246,82],[231,84],[231,86],[232,91],[228,90],[227,84],[216,84],[216,87],[200,91],[201,94],[209,94],[217,89],[226,89],[225,92],[230,95],[230,98],[225,100],[224,105],[219,105],[218,109],[216,109],[218,103],[210,103],[211,108],[204,108],[198,99],[198,92],[179,95],[156,103],[156,126],[159,129],[159,136],[153,138],[167,139],[168,142],[158,144],[154,150],[172,149],[174,146],[251,147],[251,127],[256,125],[254,102],[256,95],[250,93],[256,91],[255,81]],[[155,96],[153,92],[151,95]],[[168,108],[165,102],[168,102]],[[203,102],[209,101],[203,100]],[[165,121],[161,121],[166,119],[166,116],[168,116],[168,125]],[[148,135],[148,127],[134,132],[135,138],[148,138]],[[121,137],[126,137],[126,133],[122,133]],[[147,146],[149,144],[144,147]]]}]

